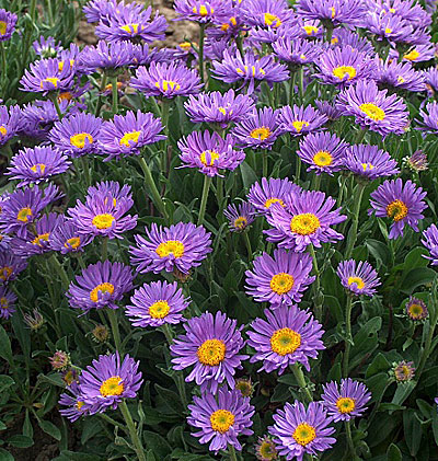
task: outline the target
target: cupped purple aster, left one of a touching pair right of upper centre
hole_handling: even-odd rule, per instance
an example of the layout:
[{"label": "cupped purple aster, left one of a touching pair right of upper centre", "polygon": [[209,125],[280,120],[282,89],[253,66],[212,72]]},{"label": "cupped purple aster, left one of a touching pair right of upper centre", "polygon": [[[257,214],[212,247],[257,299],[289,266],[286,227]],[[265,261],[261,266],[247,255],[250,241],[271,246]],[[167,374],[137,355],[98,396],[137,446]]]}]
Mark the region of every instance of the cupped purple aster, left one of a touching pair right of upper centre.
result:
[{"label": "cupped purple aster, left one of a touching pair right of upper centre", "polygon": [[278,123],[279,111],[263,107],[249,114],[232,130],[239,146],[251,149],[272,149],[281,135]]}]

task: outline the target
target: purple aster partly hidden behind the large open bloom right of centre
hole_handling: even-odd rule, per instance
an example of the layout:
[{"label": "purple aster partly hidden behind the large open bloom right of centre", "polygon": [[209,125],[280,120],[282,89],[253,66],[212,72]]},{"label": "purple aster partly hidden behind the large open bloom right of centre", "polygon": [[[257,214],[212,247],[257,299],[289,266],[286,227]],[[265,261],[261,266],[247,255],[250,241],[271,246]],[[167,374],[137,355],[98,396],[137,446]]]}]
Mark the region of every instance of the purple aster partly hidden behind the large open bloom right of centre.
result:
[{"label": "purple aster partly hidden behind the large open bloom right of centre", "polygon": [[301,187],[287,177],[285,180],[262,177],[260,183],[254,183],[251,186],[247,199],[261,215],[267,215],[273,204],[285,207],[286,198],[292,192],[298,193],[300,191]]}]

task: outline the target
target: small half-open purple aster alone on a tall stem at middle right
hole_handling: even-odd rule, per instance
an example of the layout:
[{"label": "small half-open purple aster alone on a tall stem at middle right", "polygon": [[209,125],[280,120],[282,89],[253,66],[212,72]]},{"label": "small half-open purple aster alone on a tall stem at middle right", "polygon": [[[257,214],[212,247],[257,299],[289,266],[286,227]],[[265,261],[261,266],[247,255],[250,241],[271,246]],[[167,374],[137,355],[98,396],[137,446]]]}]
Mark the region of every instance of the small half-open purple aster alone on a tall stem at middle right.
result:
[{"label": "small half-open purple aster alone on a tall stem at middle right", "polygon": [[373,296],[376,288],[381,285],[377,272],[366,261],[343,261],[337,266],[336,274],[343,287],[357,296]]}]

